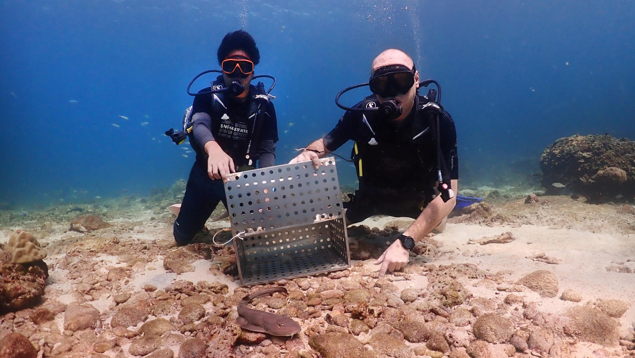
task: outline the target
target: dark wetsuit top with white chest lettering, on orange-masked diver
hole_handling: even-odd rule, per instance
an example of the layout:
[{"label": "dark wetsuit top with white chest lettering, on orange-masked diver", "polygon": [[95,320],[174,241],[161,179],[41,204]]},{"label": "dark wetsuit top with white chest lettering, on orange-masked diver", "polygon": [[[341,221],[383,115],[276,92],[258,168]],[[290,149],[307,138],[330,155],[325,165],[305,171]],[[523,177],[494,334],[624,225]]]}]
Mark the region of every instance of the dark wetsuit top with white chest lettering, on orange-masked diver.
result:
[{"label": "dark wetsuit top with white chest lettering, on orange-masked diver", "polygon": [[[255,88],[251,86],[251,93]],[[200,92],[210,91],[210,88],[201,89]],[[218,145],[232,157],[234,165],[239,168],[248,164],[245,158],[248,143],[253,136],[251,156],[255,161],[258,160],[258,168],[265,168],[274,165],[276,158],[276,142],[277,136],[277,119],[276,110],[273,103],[264,104],[264,114],[258,119],[256,124],[257,133],[253,133],[253,117],[248,118],[251,102],[254,101],[251,96],[244,102],[239,102],[227,95],[217,95],[217,97],[225,105],[226,110],[219,113],[217,110],[222,106],[215,106],[213,109],[213,96],[211,94],[199,95],[194,97],[192,104],[192,123],[194,142],[192,149],[196,151],[196,162],[207,168],[207,154],[203,150],[203,146],[210,140],[215,140]],[[207,169],[205,169],[207,170]]]}]

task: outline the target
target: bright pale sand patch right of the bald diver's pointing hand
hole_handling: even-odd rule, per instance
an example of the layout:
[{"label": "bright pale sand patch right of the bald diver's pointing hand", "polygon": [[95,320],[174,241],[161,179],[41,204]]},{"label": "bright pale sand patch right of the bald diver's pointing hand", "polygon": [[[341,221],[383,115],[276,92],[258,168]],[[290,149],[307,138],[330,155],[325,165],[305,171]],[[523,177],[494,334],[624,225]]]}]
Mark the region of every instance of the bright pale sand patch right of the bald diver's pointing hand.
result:
[{"label": "bright pale sand patch right of the bald diver's pointing hand", "polygon": [[[512,232],[515,241],[507,244],[474,245],[467,244],[469,239],[483,236],[500,235]],[[534,292],[514,292],[523,296],[525,301],[538,302],[539,310],[547,313],[560,313],[567,307],[582,305],[596,300],[617,299],[629,305],[622,316],[622,322],[635,322],[635,274],[608,272],[606,267],[613,262],[625,262],[635,258],[635,235],[599,234],[573,229],[554,230],[550,227],[521,225],[520,227],[487,227],[485,225],[448,224],[445,232],[434,237],[443,244],[443,249],[453,255],[434,258],[435,265],[451,263],[473,263],[479,268],[494,274],[502,270],[511,270],[511,281],[536,270],[548,270],[558,277],[559,291],[555,298],[541,298]],[[526,256],[545,253],[558,258],[558,265],[532,261]],[[467,255],[467,256],[464,256]],[[478,255],[478,256],[473,256]],[[469,287],[472,293],[476,288]],[[580,303],[561,300],[565,289],[573,289],[584,297]],[[493,298],[498,295],[488,289],[478,290],[478,296]],[[622,326],[625,330],[627,326]]]}]

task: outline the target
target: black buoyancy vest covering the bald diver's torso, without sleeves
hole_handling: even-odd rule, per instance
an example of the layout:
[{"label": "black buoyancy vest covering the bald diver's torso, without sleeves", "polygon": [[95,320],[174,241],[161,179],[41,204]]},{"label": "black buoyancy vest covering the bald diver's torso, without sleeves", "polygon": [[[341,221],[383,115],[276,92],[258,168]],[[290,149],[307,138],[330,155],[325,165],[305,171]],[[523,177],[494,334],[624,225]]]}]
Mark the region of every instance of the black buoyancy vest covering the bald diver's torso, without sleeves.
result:
[{"label": "black buoyancy vest covering the bald diver's torso, without sleeves", "polygon": [[[434,109],[426,107],[429,102],[417,95],[414,114],[404,119],[410,120],[401,129],[382,123],[377,112],[361,114],[351,152],[359,179],[356,200],[369,204],[398,202],[410,209],[423,209],[432,201],[437,162],[436,138],[427,116]],[[359,103],[366,108],[378,104],[375,95]],[[441,115],[451,118],[445,110]]]}]

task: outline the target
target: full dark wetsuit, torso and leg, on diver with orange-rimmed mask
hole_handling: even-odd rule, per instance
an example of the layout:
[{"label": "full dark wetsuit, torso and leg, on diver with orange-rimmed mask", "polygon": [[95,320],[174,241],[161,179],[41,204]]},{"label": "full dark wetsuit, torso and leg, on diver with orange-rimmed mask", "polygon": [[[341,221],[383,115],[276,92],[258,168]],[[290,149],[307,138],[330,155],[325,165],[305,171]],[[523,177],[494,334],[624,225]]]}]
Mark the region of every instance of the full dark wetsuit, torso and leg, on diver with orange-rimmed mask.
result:
[{"label": "full dark wetsuit, torso and leg, on diver with orange-rimmed mask", "polygon": [[[201,90],[210,91],[210,88]],[[251,87],[255,91],[255,87]],[[254,92],[251,92],[254,93]],[[264,113],[258,117],[253,133],[253,117],[249,118],[252,102],[251,96],[245,102],[238,102],[230,96],[217,95],[225,105],[213,105],[211,94],[199,95],[194,98],[192,105],[193,131],[190,136],[192,149],[196,151],[196,162],[192,166],[190,176],[185,187],[185,195],[181,204],[181,211],[174,222],[174,238],[179,245],[189,244],[194,235],[203,229],[219,201],[227,208],[225,190],[222,180],[211,180],[207,173],[208,156],[203,146],[210,140],[215,140],[227,155],[232,157],[236,169],[248,164],[245,158],[248,143],[251,143],[251,159],[258,161],[259,168],[274,164],[276,157],[277,124],[276,111],[271,102],[263,104]],[[255,166],[253,162],[253,166]]]}]

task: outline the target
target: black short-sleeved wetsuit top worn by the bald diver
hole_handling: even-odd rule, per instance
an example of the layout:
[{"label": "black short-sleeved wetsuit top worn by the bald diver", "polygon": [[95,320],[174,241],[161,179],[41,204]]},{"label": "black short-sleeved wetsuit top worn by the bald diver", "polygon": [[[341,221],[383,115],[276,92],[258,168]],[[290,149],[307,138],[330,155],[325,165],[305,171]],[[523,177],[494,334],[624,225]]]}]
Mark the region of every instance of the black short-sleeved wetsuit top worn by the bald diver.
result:
[{"label": "black short-sleeved wetsuit top worn by the bald diver", "polygon": [[[426,103],[427,99],[419,96],[418,101]],[[363,102],[356,107],[361,105]],[[347,111],[335,128],[324,136],[324,145],[329,151],[338,149],[348,140],[358,144],[359,154],[353,150],[359,178],[358,205],[383,206],[398,213],[412,213],[402,213],[402,216],[413,216],[431,201],[438,179],[436,144],[429,128],[413,141],[413,136],[418,134],[413,133],[415,115],[418,123],[423,124],[422,128],[428,128],[426,112],[415,107],[399,127],[367,114],[366,119],[375,132],[373,135],[363,123],[363,112]],[[439,116],[439,129],[441,160],[446,162],[450,178],[458,179],[457,131],[453,119],[445,111]],[[377,145],[368,143],[371,138],[375,138]],[[362,176],[359,176],[359,158],[362,159]]]}]

